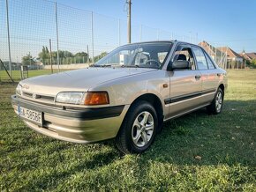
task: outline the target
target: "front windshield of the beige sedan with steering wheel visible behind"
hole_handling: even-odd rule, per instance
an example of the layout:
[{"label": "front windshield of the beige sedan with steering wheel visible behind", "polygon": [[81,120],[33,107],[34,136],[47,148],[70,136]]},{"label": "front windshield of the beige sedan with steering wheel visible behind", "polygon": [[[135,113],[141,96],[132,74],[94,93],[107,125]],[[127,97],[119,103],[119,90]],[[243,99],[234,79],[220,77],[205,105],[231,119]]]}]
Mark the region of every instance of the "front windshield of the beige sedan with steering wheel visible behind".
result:
[{"label": "front windshield of the beige sedan with steering wheel visible behind", "polygon": [[170,42],[150,42],[125,45],[116,48],[95,67],[143,67],[159,69],[164,63],[172,46]]}]

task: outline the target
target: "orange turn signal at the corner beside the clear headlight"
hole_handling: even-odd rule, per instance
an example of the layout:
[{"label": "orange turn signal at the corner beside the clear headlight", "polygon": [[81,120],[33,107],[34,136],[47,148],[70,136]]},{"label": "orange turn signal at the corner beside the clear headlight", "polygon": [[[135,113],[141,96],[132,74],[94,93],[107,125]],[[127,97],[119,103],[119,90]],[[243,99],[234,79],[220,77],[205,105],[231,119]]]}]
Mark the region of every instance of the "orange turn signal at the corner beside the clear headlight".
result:
[{"label": "orange turn signal at the corner beside the clear headlight", "polygon": [[109,104],[108,92],[87,92],[85,95],[85,105],[106,105]]}]

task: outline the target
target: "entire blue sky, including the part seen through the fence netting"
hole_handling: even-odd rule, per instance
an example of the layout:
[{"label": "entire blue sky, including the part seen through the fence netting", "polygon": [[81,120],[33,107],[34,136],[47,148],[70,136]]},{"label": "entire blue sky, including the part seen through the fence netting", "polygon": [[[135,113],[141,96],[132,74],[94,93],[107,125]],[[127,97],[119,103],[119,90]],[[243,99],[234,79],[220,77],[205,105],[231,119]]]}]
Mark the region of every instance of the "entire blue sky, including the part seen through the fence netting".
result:
[{"label": "entire blue sky, including the part seen through the fence netting", "polygon": [[[0,58],[8,60],[5,2],[0,0]],[[126,0],[56,0],[56,9],[51,0],[8,2],[14,62],[27,54],[36,58],[49,40],[56,51],[56,20],[59,50],[88,48],[89,55],[100,55],[127,43]],[[132,0],[132,42],[207,41],[237,53],[256,52],[255,10],[256,0]]]}]

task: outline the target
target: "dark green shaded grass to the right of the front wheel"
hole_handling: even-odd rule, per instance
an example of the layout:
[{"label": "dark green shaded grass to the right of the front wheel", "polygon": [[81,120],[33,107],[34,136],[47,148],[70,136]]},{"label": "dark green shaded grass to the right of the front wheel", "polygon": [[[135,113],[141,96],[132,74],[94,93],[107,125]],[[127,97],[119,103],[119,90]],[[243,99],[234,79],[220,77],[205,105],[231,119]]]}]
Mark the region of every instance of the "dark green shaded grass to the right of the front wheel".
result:
[{"label": "dark green shaded grass to the right of the front wheel", "polygon": [[225,100],[222,114],[202,108],[170,122],[141,161],[256,166],[256,100]]}]

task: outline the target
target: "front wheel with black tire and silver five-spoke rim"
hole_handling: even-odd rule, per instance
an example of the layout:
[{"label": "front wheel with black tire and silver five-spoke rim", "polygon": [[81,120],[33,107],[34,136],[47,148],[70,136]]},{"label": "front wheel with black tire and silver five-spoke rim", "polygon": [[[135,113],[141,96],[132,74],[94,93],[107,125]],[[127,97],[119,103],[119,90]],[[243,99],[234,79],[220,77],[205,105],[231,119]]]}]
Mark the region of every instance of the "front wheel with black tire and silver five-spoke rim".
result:
[{"label": "front wheel with black tire and silver five-spoke rim", "polygon": [[144,100],[132,104],[116,137],[117,148],[124,153],[141,153],[154,142],[158,118],[154,107]]}]

